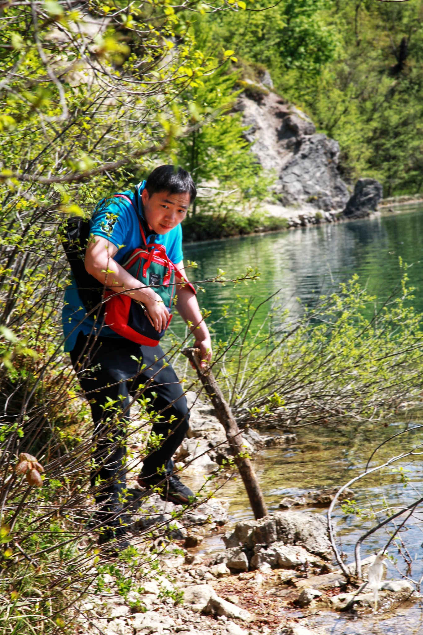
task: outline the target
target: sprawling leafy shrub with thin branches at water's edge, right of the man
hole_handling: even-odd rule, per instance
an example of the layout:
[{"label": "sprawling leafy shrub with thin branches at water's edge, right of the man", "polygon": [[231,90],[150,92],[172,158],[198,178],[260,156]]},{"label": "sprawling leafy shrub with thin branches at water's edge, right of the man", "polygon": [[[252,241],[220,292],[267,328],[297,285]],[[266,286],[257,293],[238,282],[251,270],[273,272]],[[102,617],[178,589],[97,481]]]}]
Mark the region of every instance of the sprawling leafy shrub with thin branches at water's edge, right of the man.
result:
[{"label": "sprawling leafy shrub with thin branches at water's edge, right of the man", "polygon": [[412,291],[405,271],[391,297],[377,302],[353,276],[315,307],[296,306],[299,318],[275,306],[267,320],[263,303],[238,297],[225,307],[228,338],[216,354],[238,421],[346,430],[386,422],[420,395],[422,316]]}]

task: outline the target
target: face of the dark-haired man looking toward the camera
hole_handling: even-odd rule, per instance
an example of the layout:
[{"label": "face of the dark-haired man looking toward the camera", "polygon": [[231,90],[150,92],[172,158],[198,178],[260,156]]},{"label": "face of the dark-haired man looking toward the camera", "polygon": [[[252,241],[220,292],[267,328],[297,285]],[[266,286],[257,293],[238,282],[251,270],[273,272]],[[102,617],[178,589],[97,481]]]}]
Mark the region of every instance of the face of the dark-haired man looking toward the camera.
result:
[{"label": "face of the dark-haired man looking toward the camera", "polygon": [[144,188],[141,199],[145,220],[155,234],[167,234],[179,225],[186,217],[190,204],[189,192],[182,192],[182,194],[155,192],[149,196]]}]

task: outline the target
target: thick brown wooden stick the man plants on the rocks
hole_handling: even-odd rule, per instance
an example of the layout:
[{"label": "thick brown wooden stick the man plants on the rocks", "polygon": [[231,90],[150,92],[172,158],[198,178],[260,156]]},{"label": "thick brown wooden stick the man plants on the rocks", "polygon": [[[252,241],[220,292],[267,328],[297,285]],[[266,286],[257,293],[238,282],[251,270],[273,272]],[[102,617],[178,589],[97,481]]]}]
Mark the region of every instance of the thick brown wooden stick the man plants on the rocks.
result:
[{"label": "thick brown wooden stick the man plants on the rocks", "polygon": [[245,453],[245,448],[242,446],[240,429],[233,417],[229,404],[223,396],[223,392],[218,386],[218,382],[216,382],[216,379],[208,366],[207,368],[201,368],[201,357],[198,349],[184,349],[182,352],[195,367],[198,378],[204,385],[205,392],[207,392],[214,406],[214,410],[216,410],[216,416],[225,428],[226,439],[228,439],[231,453],[235,458],[235,464],[237,464],[242,481],[245,485],[245,490],[247,490],[255,518],[264,518],[264,516],[268,516],[263,492],[261,491],[259,481],[257,481],[256,473],[252,468],[251,460],[249,458],[242,457],[242,454]]}]

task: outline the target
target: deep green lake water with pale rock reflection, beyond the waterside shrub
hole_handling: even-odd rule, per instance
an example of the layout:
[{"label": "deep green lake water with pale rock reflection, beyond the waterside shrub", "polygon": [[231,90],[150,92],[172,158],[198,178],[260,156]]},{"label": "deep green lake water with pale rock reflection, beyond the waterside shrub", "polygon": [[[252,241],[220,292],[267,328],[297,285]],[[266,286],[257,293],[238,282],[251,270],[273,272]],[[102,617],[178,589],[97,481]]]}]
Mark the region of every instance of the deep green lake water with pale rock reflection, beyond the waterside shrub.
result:
[{"label": "deep green lake water with pale rock reflection, beyond the waterside shrub", "polygon": [[[185,245],[185,260],[195,260],[196,279],[216,275],[218,267],[235,277],[245,267],[257,267],[261,281],[245,287],[207,284],[200,294],[200,305],[217,317],[219,309],[236,293],[258,300],[280,290],[283,303],[293,314],[299,311],[295,298],[315,304],[320,293],[333,290],[341,281],[358,274],[368,290],[379,298],[387,297],[400,279],[398,257],[412,267],[410,281],[417,286],[415,306],[423,311],[423,206],[410,211],[342,224],[325,224],[289,232],[245,236],[226,241]],[[259,316],[266,313],[263,307]],[[223,328],[223,327],[218,327]],[[223,335],[218,330],[218,335]]]}]

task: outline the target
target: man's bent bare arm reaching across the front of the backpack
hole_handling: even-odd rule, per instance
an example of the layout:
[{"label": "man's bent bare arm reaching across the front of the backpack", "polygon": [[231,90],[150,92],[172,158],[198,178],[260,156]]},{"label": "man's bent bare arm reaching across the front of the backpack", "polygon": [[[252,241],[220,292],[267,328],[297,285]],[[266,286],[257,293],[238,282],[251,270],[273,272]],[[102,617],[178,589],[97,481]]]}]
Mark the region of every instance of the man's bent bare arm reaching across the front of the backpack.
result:
[{"label": "man's bent bare arm reaching across the front of the backpack", "polygon": [[142,302],[156,331],[166,328],[169,319],[164,302],[151,288],[131,276],[113,257],[117,246],[103,236],[92,236],[85,255],[85,269],[101,284]]}]

